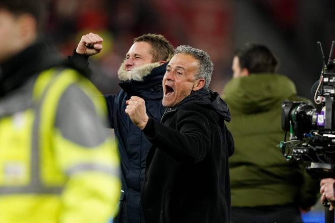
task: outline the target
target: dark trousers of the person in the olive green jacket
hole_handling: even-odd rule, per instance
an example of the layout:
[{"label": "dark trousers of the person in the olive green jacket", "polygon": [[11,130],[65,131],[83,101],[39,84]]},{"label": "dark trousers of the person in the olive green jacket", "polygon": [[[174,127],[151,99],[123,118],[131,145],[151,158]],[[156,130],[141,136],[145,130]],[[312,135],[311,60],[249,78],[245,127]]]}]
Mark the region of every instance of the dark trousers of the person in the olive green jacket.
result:
[{"label": "dark trousers of the person in the olive green jacket", "polygon": [[295,206],[231,207],[231,223],[302,222]]}]

